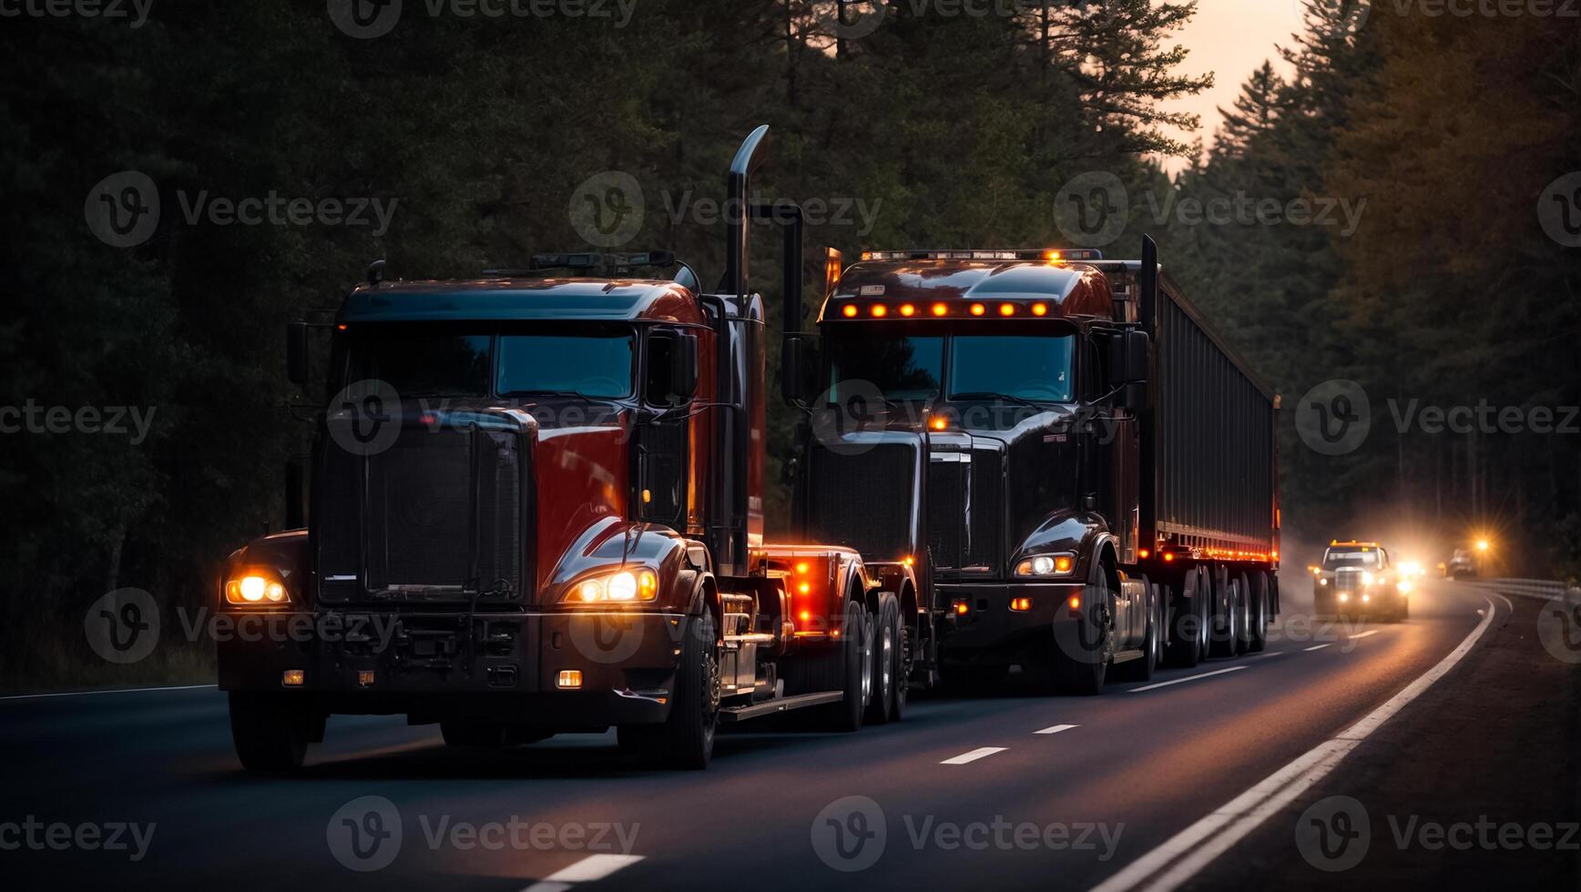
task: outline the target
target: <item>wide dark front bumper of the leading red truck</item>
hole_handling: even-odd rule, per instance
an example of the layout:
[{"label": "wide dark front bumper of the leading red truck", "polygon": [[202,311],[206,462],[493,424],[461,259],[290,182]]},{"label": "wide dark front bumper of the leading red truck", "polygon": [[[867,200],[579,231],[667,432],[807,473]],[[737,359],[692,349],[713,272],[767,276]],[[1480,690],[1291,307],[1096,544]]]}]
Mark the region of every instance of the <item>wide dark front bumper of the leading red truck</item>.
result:
[{"label": "wide dark front bumper of the leading red truck", "polygon": [[544,731],[664,721],[692,617],[662,613],[272,614],[217,632],[220,688],[323,714],[406,714]]}]

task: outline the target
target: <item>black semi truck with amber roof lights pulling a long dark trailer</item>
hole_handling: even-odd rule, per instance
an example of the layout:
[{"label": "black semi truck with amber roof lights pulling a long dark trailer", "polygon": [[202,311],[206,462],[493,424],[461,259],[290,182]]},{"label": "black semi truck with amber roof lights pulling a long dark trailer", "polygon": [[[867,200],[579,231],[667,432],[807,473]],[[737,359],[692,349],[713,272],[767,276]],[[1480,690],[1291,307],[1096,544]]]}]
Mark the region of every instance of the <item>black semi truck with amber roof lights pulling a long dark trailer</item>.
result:
[{"label": "black semi truck with amber roof lights pulling a long dark trailer", "polygon": [[[1262,650],[1279,611],[1279,399],[1157,248],[830,256],[797,532],[914,565],[919,680]],[[809,347],[787,344],[790,369]],[[858,404],[852,407],[852,404]],[[821,412],[846,415],[819,425]],[[835,429],[840,428],[840,429]],[[930,635],[928,630],[933,633]]]}]

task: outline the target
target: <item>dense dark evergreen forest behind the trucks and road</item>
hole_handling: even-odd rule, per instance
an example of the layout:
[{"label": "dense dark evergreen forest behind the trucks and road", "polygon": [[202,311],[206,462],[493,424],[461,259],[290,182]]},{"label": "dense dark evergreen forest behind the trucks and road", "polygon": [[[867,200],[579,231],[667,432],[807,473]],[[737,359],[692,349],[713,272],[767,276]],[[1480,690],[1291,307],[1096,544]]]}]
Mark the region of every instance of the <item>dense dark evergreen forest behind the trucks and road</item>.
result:
[{"label": "dense dark evergreen forest behind the trucks and road", "polygon": [[[1110,172],[1134,199],[1110,249],[1159,234],[1173,273],[1290,401],[1341,373],[1380,396],[1581,401],[1573,253],[1543,240],[1527,199],[1578,166],[1575,30],[1374,16],[1350,33],[1333,27],[1338,2],[1319,0],[1290,44],[1296,76],[1255,74],[1178,182],[1159,159],[1195,155],[1179,136],[1195,120],[1160,101],[1208,84],[1181,73],[1172,38],[1190,2],[896,2],[871,30],[873,5],[851,0],[640,0],[629,21],[615,3],[489,17],[408,2],[376,36],[337,27],[323,0],[161,0],[139,27],[8,19],[0,403],[153,415],[138,442],[0,437],[0,677],[87,677],[73,674],[93,665],[76,630],[98,595],[136,586],[196,609],[218,560],[278,527],[283,461],[307,442],[286,407],[283,322],[334,306],[375,257],[428,278],[582,248],[574,191],[609,171],[642,186],[629,248],[674,248],[711,284],[723,237],[702,202],[723,197],[757,123],[775,126],[764,197],[828,208],[813,246],[1058,245],[1061,186]],[[155,183],[161,213],[152,237],[112,246],[84,201],[123,171]],[[1149,194],[1236,189],[1368,196],[1369,210],[1344,238],[1143,212]],[[215,213],[274,197],[392,213],[387,230]],[[756,268],[772,270],[760,242]],[[776,456],[790,422],[773,417]],[[1581,469],[1564,437],[1375,434],[1326,459],[1290,434],[1285,466],[1287,524],[1437,499],[1424,518],[1568,523],[1578,551]],[[201,643],[191,652],[201,668]],[[185,666],[169,662],[179,647],[161,654],[136,671]]]}]

